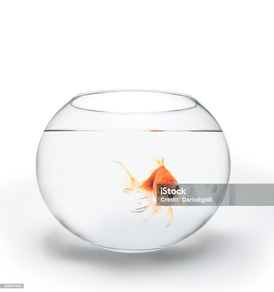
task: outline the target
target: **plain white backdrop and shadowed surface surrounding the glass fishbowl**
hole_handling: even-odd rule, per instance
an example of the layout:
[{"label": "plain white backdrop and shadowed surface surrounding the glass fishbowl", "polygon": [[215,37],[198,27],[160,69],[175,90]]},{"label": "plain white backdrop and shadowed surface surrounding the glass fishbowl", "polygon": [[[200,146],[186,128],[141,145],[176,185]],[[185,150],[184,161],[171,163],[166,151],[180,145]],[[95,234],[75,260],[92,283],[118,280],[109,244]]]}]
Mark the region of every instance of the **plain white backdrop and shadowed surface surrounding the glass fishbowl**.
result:
[{"label": "plain white backdrop and shadowed surface surrounding the glass fishbowl", "polygon": [[192,95],[223,128],[230,183],[274,183],[272,1],[2,1],[0,283],[27,291],[272,291],[273,207],[222,207],[166,250],[101,250],[65,230],[35,178],[74,95]]}]

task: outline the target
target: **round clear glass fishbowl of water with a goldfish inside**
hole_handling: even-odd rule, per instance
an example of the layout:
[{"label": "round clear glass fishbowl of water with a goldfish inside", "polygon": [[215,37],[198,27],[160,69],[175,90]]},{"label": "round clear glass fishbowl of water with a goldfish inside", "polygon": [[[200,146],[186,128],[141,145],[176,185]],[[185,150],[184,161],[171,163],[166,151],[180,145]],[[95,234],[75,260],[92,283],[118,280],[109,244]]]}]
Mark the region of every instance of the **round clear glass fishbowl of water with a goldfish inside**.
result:
[{"label": "round clear glass fishbowl of water with a goldfish inside", "polygon": [[[96,91],[72,98],[51,119],[36,170],[47,207],[70,232],[113,251],[145,252],[181,241],[211,218],[230,155],[217,121],[189,95]],[[206,184],[208,194],[224,187],[215,203],[185,208],[158,206],[156,183]]]}]

